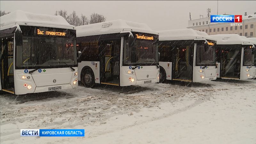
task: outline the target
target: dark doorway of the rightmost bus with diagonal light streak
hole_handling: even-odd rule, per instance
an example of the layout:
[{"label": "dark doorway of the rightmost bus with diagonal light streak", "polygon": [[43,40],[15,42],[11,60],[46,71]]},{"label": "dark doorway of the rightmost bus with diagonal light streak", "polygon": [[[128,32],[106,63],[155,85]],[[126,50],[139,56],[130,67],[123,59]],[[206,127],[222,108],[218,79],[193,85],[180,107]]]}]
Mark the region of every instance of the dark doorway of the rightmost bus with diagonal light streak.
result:
[{"label": "dark doorway of the rightmost bus with diagonal light streak", "polygon": [[222,48],[221,77],[240,78],[241,48]]}]

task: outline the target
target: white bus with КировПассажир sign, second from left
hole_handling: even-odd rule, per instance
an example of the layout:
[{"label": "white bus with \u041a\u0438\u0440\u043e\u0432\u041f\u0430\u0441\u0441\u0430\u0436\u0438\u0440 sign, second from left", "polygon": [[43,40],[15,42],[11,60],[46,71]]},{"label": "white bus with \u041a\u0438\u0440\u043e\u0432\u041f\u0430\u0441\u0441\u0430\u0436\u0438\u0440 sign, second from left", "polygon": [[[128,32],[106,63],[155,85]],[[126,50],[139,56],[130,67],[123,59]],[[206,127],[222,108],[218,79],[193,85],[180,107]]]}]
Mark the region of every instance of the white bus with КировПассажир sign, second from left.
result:
[{"label": "white bus with \u041a\u0438\u0440\u043e\u0432\u041f\u0430\u0441\u0441\u0430\u0436\u0438\u0440 sign, second from left", "polygon": [[112,20],[76,28],[78,80],[86,87],[159,82],[158,33],[148,25]]}]

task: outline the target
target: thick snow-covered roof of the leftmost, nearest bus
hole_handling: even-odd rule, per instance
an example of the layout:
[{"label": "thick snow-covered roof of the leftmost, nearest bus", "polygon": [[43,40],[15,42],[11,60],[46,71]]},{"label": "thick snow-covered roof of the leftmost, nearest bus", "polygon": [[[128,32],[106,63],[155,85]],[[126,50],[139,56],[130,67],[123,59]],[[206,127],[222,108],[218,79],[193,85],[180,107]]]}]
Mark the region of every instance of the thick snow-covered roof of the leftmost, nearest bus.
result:
[{"label": "thick snow-covered roof of the leftmost, nearest bus", "polygon": [[0,17],[0,30],[12,28],[15,25],[75,29],[75,26],[70,25],[59,15],[53,16],[16,10]]}]

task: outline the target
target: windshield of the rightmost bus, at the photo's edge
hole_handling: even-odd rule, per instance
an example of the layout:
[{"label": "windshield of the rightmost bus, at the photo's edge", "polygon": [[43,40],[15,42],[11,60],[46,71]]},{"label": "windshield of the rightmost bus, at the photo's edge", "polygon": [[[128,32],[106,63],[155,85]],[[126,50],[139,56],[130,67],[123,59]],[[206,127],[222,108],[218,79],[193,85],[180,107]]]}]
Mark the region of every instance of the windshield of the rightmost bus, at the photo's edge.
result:
[{"label": "windshield of the rightmost bus, at the photo's edge", "polygon": [[250,46],[244,47],[244,60],[243,66],[252,66],[256,62],[255,48]]}]

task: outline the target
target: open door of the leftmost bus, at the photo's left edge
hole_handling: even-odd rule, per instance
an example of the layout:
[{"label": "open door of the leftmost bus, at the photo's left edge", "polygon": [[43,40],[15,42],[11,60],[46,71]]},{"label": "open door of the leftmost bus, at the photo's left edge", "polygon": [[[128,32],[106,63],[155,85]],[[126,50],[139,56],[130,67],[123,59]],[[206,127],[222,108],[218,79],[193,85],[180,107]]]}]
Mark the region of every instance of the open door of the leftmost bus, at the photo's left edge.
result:
[{"label": "open door of the leftmost bus, at the photo's left edge", "polygon": [[1,86],[14,94],[13,36],[1,37]]}]

